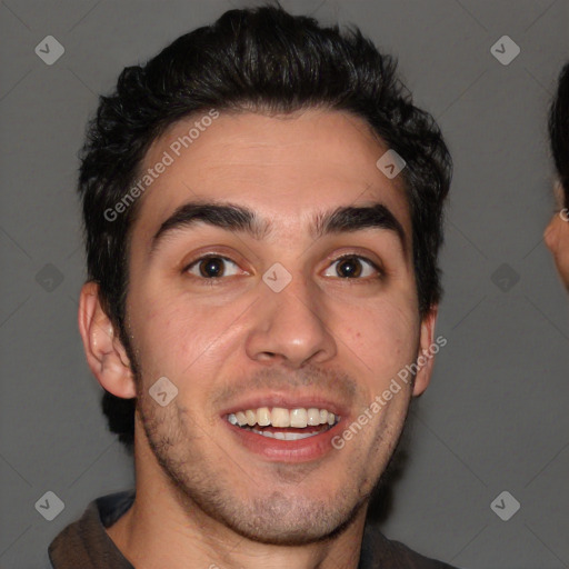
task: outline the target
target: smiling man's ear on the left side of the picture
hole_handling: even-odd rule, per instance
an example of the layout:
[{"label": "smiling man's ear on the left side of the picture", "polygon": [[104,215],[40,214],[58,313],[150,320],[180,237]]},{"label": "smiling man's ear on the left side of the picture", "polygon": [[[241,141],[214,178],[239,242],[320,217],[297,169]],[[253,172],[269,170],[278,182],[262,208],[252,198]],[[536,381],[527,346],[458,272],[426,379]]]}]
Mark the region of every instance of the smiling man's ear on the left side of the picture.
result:
[{"label": "smiling man's ear on the left side of the picture", "polygon": [[102,309],[96,282],[86,282],[81,288],[78,318],[87,363],[99,383],[117,397],[136,397],[129,358]]}]

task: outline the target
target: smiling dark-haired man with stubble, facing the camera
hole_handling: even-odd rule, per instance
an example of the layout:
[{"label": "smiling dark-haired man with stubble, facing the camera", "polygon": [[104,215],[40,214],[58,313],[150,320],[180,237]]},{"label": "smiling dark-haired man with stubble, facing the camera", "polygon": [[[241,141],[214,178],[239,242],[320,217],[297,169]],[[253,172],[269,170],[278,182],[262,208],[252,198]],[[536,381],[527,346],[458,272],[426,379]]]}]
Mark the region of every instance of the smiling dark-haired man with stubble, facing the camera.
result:
[{"label": "smiling dark-haired man with stubble, facing the camera", "polygon": [[136,492],[67,568],[448,568],[366,523],[429,383],[450,157],[360,32],[231,10],[121,73],[83,150],[79,327]]}]

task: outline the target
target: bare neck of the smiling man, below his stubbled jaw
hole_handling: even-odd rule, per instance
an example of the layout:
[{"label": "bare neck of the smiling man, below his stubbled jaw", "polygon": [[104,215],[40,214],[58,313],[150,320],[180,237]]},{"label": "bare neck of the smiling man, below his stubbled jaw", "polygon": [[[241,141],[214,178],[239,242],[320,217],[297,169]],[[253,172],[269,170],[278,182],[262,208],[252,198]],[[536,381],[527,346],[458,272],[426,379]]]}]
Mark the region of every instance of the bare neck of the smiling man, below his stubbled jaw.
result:
[{"label": "bare neck of the smiling man, below his stubbled jaw", "polygon": [[[156,481],[156,479],[154,479]],[[357,569],[367,506],[337,536],[302,546],[244,538],[164,486],[139,485],[132,507],[109,537],[137,569]]]}]

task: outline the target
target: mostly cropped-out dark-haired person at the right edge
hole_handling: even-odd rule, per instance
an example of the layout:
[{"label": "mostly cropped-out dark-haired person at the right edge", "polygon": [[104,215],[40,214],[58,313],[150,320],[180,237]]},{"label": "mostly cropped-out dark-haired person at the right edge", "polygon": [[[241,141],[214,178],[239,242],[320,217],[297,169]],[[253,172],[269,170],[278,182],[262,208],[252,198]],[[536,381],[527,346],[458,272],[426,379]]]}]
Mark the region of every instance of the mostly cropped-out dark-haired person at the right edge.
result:
[{"label": "mostly cropped-out dark-haired person at the right edge", "polygon": [[561,70],[549,112],[549,138],[558,174],[555,188],[558,211],[543,237],[559,274],[569,288],[569,63]]}]

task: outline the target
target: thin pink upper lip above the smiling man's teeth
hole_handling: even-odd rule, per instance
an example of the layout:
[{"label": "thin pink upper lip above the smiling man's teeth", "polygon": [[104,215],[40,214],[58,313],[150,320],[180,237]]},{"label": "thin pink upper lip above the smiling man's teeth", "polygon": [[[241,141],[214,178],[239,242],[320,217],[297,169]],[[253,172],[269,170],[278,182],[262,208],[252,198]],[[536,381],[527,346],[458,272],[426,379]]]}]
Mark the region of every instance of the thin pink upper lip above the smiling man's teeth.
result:
[{"label": "thin pink upper lip above the smiling man's teeth", "polygon": [[327,396],[322,395],[290,395],[290,393],[279,393],[271,391],[267,395],[256,395],[249,396],[247,399],[242,399],[240,401],[231,403],[230,407],[223,409],[221,411],[221,416],[227,416],[230,413],[236,413],[237,411],[246,411],[248,409],[259,409],[261,407],[281,407],[284,409],[327,409],[328,411],[335,413],[339,417],[346,417],[348,415],[348,410],[345,403],[339,401],[333,401]]}]

